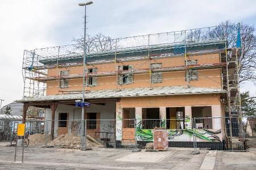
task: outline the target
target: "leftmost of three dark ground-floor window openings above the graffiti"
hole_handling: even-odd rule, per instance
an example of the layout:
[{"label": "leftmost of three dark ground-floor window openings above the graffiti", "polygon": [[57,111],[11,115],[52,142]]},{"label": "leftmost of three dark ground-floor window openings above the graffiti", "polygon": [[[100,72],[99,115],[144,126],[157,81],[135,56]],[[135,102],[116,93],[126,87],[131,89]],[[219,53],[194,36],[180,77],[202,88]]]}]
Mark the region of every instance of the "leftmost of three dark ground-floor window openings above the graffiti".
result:
[{"label": "leftmost of three dark ground-floor window openings above the graffiti", "polygon": [[142,108],[142,129],[160,128],[159,108]]}]

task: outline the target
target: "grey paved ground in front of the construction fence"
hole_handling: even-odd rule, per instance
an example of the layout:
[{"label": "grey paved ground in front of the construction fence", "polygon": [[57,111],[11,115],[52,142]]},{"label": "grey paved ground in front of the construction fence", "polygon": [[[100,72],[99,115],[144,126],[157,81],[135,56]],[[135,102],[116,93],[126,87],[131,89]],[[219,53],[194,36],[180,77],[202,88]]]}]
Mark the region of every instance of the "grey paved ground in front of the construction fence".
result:
[{"label": "grey paved ground in front of the construction fence", "polygon": [[[201,150],[170,148],[166,152],[131,152],[130,150],[96,148],[90,151],[28,146],[24,163],[14,163],[15,147],[0,142],[0,169],[254,169],[256,152],[223,152],[209,154]],[[21,155],[21,150],[18,151]],[[217,154],[216,154],[217,153]],[[21,160],[20,157],[17,158]],[[213,161],[214,160],[214,161]],[[201,166],[202,165],[202,166]]]}]

